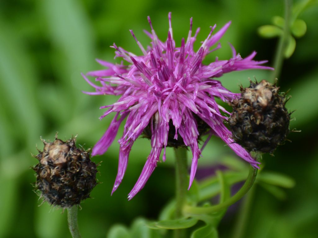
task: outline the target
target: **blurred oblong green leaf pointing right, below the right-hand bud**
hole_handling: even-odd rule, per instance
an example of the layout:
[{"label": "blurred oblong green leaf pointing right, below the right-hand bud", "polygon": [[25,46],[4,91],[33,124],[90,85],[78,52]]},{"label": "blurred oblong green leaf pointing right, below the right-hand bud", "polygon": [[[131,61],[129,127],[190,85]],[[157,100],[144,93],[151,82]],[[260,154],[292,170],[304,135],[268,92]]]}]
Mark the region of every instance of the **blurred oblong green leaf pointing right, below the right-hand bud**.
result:
[{"label": "blurred oblong green leaf pointing right, below the right-hand bud", "polygon": [[293,178],[276,172],[262,171],[256,179],[257,181],[283,188],[293,188],[295,186]]}]

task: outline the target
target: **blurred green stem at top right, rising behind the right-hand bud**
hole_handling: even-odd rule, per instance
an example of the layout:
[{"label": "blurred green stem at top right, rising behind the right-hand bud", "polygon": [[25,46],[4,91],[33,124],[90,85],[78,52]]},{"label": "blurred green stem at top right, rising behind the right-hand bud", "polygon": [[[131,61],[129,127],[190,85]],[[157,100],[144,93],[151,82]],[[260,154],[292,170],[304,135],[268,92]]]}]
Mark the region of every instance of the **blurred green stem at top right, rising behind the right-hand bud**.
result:
[{"label": "blurred green stem at top right, rising behind the right-hand bud", "polygon": [[283,34],[280,36],[279,43],[277,46],[275,59],[274,59],[274,71],[272,72],[271,82],[274,82],[276,78],[279,77],[281,68],[284,61],[284,52],[286,49],[288,36],[290,34],[289,32],[289,23],[291,18],[291,10],[292,10],[292,0],[285,0],[285,12],[284,12],[284,19],[285,19],[285,25],[283,29]]}]

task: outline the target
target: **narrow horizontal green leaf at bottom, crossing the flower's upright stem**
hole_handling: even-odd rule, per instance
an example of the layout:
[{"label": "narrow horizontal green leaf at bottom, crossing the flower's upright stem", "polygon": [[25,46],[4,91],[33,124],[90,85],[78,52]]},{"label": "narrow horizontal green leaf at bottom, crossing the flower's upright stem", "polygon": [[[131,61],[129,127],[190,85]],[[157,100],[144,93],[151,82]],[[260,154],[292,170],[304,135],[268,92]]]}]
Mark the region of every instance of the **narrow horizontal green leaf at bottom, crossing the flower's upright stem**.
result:
[{"label": "narrow horizontal green leaf at bottom, crossing the flower's upright stem", "polygon": [[159,229],[185,229],[193,227],[197,224],[196,218],[182,218],[176,220],[165,220],[149,223],[150,228],[159,228]]}]

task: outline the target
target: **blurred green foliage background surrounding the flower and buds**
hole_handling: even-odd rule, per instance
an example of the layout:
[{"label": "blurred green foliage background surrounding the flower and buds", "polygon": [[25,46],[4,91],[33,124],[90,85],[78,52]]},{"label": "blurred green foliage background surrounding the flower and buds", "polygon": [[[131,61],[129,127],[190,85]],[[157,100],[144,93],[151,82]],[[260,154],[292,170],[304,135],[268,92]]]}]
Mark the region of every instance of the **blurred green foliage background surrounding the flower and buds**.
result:
[{"label": "blurred green foliage background surrounding the flower and buds", "polygon": [[[176,45],[187,36],[189,18],[194,28],[201,27],[195,46],[204,40],[209,26],[220,29],[232,20],[221,40],[222,48],[206,62],[232,56],[228,42],[243,56],[253,50],[256,60],[273,64],[277,39],[263,39],[257,28],[269,24],[275,15],[282,16],[282,1],[88,1],[88,0],[1,0],[0,1],[0,237],[71,237],[66,212],[41,204],[32,191],[35,176],[31,166],[37,160],[36,145],[42,149],[40,136],[69,139],[78,134],[78,143],[89,148],[96,143],[112,116],[102,121],[102,105],[114,102],[111,96],[88,96],[93,91],[80,72],[101,69],[94,59],[114,62],[115,42],[128,51],[140,54],[129,33],[133,29],[139,41],[149,45],[142,32],[149,30],[150,15],[158,36],[168,32],[167,14],[172,11]],[[285,199],[277,199],[256,187],[245,237],[317,237],[318,235],[318,8],[311,7],[300,16],[307,23],[307,33],[297,40],[294,55],[283,65],[279,84],[282,91],[291,89],[287,103],[297,110],[291,133],[275,156],[265,155],[266,170],[282,172],[296,181],[286,190]],[[248,85],[248,77],[266,79],[268,71],[248,70],[220,78],[225,87],[238,92],[239,84]],[[122,128],[116,139],[120,138]],[[119,189],[110,192],[117,173],[118,143],[114,142],[100,162],[101,182],[91,193],[93,199],[81,204],[79,227],[83,237],[105,237],[114,224],[130,226],[136,217],[157,219],[162,206],[174,196],[174,159],[168,149],[167,161],[159,163],[145,188],[131,201],[127,194],[135,184],[150,151],[150,142],[138,139],[132,149],[128,169]],[[219,138],[212,138],[200,167],[213,166],[226,156],[234,156]],[[239,160],[239,158],[238,158]],[[206,173],[206,172],[205,172]],[[231,237],[237,209],[230,209],[220,224],[220,237]],[[239,218],[240,219],[240,218]]]}]

